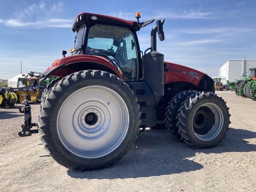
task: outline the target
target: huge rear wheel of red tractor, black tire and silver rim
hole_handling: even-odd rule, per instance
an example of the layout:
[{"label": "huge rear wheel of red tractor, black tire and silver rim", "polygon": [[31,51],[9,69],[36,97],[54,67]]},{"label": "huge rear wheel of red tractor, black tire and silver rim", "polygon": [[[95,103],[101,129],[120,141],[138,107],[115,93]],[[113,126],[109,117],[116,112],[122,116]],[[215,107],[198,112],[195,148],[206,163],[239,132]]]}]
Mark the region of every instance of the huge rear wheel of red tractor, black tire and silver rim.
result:
[{"label": "huge rear wheel of red tractor, black tire and silver rim", "polygon": [[137,98],[115,75],[73,73],[44,96],[39,133],[46,151],[66,168],[108,167],[133,146],[140,128]]}]

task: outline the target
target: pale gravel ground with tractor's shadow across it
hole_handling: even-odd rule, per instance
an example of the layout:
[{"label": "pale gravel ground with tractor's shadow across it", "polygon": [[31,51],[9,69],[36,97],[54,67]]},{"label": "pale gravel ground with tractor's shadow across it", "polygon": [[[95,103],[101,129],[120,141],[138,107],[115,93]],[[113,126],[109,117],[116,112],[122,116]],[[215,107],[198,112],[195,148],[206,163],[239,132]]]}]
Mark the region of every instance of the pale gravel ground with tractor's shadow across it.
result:
[{"label": "pale gravel ground with tractor's shadow across it", "polygon": [[[232,91],[216,94],[227,102],[232,122],[218,146],[194,149],[167,130],[146,129],[123,160],[92,172],[57,164],[38,134],[18,136],[24,122],[18,107],[0,108],[0,191],[256,191],[256,101]],[[31,104],[34,123],[39,106]]]}]

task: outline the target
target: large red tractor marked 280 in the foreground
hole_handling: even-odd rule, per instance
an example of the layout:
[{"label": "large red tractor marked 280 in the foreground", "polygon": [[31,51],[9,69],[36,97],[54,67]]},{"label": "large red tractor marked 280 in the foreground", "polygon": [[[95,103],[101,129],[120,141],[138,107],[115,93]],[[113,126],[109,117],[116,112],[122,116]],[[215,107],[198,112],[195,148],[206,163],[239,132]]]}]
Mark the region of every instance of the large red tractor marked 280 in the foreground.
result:
[{"label": "large red tractor marked 280 in the foreground", "polygon": [[[140,22],[139,12],[136,18],[80,13],[72,55],[62,51],[40,77],[59,77],[44,90],[38,128],[47,152],[66,168],[108,167],[124,157],[141,128],[168,128],[194,148],[226,136],[230,114],[212,78],[165,62],[156,51],[164,20]],[[136,32],[155,21],[151,47],[142,52]]]}]

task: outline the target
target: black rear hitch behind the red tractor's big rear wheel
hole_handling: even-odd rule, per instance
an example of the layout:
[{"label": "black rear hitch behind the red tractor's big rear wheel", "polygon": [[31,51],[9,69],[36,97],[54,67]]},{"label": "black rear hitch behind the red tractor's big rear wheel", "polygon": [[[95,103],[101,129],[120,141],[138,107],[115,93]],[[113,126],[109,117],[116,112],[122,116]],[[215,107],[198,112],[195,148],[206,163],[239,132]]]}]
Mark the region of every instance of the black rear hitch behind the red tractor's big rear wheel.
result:
[{"label": "black rear hitch behind the red tractor's big rear wheel", "polygon": [[31,136],[32,133],[38,133],[38,129],[32,129],[32,127],[37,127],[37,123],[31,123],[31,109],[28,104],[28,100],[24,100],[25,107],[23,110],[19,107],[20,113],[24,113],[24,124],[21,125],[22,131],[18,133],[20,137]]}]

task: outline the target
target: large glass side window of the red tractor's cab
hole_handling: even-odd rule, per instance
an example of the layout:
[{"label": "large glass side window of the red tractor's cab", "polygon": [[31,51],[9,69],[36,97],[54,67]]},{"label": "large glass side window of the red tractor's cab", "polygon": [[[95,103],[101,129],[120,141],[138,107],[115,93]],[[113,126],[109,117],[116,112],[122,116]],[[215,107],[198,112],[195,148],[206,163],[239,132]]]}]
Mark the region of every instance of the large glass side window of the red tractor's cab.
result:
[{"label": "large glass side window of the red tractor's cab", "polygon": [[108,57],[124,80],[138,80],[138,53],[134,35],[128,28],[96,24],[88,34],[86,54]]}]

